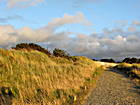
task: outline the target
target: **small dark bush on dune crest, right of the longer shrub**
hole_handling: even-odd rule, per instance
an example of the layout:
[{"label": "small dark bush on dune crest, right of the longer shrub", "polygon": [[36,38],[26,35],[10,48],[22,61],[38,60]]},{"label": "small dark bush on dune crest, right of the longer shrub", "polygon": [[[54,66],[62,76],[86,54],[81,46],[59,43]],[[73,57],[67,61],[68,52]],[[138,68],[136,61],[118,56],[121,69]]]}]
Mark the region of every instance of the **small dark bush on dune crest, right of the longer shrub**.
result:
[{"label": "small dark bush on dune crest, right of the longer shrub", "polygon": [[53,50],[53,55],[56,56],[56,57],[65,57],[65,58],[69,58],[69,56],[70,56],[69,53],[67,53],[64,50],[58,49],[58,48],[55,48]]}]

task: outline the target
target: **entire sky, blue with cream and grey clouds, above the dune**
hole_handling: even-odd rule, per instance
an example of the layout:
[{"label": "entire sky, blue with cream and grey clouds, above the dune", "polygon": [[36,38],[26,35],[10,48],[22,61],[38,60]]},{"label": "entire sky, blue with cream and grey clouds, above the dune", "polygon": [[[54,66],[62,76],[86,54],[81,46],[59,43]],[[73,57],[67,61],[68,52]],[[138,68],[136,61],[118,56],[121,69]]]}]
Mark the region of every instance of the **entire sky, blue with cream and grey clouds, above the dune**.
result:
[{"label": "entire sky, blue with cream and grey clouds, above the dune", "polygon": [[0,0],[0,47],[37,43],[90,58],[140,56],[140,0]]}]

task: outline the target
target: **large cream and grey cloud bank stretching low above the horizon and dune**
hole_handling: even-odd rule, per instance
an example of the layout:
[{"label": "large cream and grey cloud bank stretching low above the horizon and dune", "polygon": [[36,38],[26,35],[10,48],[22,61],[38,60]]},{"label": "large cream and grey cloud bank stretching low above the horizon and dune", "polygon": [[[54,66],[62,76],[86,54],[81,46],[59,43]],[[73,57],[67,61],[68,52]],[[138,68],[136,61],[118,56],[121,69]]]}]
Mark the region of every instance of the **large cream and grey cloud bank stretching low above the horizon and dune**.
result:
[{"label": "large cream and grey cloud bank stretching low above the horizon and dune", "polygon": [[83,55],[90,58],[140,56],[140,30],[133,25],[128,29],[105,28],[102,33],[90,35],[65,31],[56,32],[57,28],[66,24],[91,25],[82,13],[74,16],[64,14],[63,17],[55,18],[48,25],[39,29],[30,27],[15,29],[11,25],[1,25],[0,46],[9,48],[20,42],[34,42],[46,48],[61,48],[72,55]]}]

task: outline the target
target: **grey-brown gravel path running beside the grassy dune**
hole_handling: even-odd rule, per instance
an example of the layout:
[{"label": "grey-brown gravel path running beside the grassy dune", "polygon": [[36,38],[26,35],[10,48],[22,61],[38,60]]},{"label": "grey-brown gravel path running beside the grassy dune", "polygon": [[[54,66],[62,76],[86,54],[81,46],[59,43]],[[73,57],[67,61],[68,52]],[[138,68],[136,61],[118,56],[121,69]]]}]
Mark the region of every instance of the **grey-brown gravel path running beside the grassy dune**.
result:
[{"label": "grey-brown gravel path running beside the grassy dune", "polygon": [[84,105],[140,105],[140,89],[120,72],[108,70]]}]

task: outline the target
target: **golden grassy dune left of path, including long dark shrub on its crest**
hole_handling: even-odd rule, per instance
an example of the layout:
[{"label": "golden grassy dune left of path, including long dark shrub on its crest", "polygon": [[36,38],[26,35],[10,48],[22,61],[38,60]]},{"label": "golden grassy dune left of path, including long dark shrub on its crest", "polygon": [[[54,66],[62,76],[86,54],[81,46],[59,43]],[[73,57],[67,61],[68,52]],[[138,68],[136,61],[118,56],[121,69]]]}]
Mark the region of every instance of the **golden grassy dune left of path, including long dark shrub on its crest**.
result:
[{"label": "golden grassy dune left of path, including long dark shrub on its crest", "polygon": [[[26,49],[25,46],[29,51],[17,50]],[[17,45],[14,49],[0,49],[1,103],[75,104],[81,96],[86,97],[86,92],[81,94],[90,88],[98,72],[103,70],[102,66],[86,57],[71,57],[71,60],[49,56],[50,53],[34,44]]]}]

